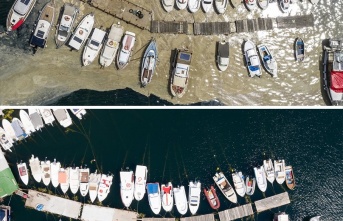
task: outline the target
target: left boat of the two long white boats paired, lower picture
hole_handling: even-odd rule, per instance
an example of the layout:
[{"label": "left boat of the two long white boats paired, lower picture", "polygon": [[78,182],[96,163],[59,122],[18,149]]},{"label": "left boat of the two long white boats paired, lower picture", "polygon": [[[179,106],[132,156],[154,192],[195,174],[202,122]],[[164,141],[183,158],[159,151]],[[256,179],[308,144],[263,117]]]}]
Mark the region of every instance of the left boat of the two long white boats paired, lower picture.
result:
[{"label": "left boat of the two long white boats paired, lower picture", "polygon": [[120,171],[120,196],[126,208],[130,207],[133,200],[134,174],[133,171]]}]

